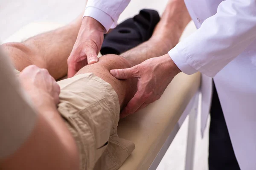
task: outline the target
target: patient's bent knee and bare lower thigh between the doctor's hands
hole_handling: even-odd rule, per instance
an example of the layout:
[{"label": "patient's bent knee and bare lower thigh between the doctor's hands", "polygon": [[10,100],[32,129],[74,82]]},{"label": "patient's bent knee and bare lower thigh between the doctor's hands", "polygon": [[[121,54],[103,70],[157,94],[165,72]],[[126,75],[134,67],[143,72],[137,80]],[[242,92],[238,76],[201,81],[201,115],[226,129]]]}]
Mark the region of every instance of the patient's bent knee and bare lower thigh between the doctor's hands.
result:
[{"label": "patient's bent knee and bare lower thigh between the doctor's hands", "polygon": [[114,91],[116,91],[122,108],[137,91],[137,79],[119,80],[110,74],[110,70],[130,67],[131,64],[127,59],[118,55],[109,54],[100,57],[99,62],[85,66],[77,74],[93,73],[108,82]]}]

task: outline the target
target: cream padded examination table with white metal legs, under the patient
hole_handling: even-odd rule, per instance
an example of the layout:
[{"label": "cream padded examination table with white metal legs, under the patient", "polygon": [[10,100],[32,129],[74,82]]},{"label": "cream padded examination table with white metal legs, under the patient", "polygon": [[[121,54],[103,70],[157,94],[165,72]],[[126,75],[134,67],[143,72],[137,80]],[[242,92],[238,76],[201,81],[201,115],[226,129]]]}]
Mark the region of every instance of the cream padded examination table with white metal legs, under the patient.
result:
[{"label": "cream padded examination table with white metal legs, under the patient", "polygon": [[[31,23],[21,28],[5,42],[21,42],[60,26],[62,25],[56,23]],[[191,115],[186,170],[192,169],[200,81],[200,73],[193,75],[180,73],[173,79],[159,100],[119,121],[118,135],[134,142],[136,146],[134,152],[119,170],[155,170],[189,113]]]}]

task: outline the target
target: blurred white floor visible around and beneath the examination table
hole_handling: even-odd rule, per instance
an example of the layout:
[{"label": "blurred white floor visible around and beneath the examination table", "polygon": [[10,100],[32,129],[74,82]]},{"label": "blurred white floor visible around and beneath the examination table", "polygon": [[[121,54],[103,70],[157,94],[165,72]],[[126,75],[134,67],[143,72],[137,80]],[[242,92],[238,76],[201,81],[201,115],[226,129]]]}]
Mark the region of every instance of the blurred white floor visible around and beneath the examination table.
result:
[{"label": "blurred white floor visible around and beneath the examination table", "polygon": [[[161,14],[168,0],[132,0],[119,18],[119,22],[132,17],[141,8],[153,8]],[[6,40],[21,27],[32,22],[68,23],[78,16],[85,6],[85,0],[0,0],[0,42]],[[187,36],[192,23],[187,28]],[[207,130],[202,140],[200,135],[200,116],[196,137],[194,170],[207,170],[208,135]],[[188,131],[188,118],[186,118],[169,150],[161,161],[157,170],[184,170],[186,153],[186,136]]]}]

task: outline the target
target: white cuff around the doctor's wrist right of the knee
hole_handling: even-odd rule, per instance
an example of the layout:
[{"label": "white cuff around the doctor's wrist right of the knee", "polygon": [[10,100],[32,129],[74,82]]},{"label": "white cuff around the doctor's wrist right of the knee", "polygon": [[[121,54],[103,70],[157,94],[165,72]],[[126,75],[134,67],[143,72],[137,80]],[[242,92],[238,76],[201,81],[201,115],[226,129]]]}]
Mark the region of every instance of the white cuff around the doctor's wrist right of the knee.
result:
[{"label": "white cuff around the doctor's wrist right of the knee", "polygon": [[177,67],[185,74],[194,74],[197,70],[191,65],[189,65],[186,61],[186,57],[180,55],[179,51],[176,47],[172,48],[168,52],[169,56],[172,58],[172,61],[177,65]]}]

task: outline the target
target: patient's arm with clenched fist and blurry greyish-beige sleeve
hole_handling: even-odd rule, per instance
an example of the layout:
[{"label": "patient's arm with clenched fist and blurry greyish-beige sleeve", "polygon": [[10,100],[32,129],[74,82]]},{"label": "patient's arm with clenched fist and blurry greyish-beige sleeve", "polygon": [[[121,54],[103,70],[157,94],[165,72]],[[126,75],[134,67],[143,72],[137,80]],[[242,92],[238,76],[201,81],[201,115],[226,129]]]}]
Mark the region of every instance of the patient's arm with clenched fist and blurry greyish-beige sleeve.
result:
[{"label": "patient's arm with clenched fist and blurry greyish-beige sleeve", "polygon": [[56,108],[56,81],[31,65],[19,83],[5,59],[0,56],[0,169],[79,170],[76,142]]}]

